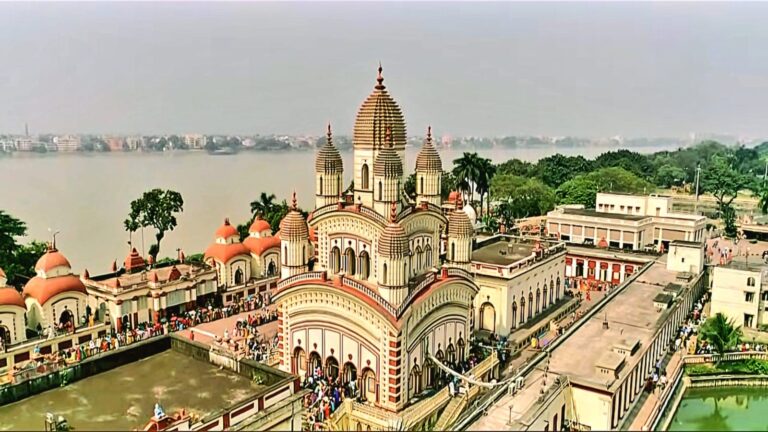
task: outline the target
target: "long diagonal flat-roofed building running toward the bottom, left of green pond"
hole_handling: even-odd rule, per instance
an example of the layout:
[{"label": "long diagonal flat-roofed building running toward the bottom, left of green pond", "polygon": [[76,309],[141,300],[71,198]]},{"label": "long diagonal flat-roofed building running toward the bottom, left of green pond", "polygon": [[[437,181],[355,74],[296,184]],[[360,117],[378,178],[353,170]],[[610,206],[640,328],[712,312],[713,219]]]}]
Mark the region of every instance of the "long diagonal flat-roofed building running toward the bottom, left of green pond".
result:
[{"label": "long diagonal flat-roofed building running toward the bottom, left of green pond", "polygon": [[[703,244],[649,262],[574,325],[521,385],[469,430],[626,429],[654,367],[707,286]],[[680,271],[683,269],[684,271]],[[569,429],[573,430],[573,429]]]}]

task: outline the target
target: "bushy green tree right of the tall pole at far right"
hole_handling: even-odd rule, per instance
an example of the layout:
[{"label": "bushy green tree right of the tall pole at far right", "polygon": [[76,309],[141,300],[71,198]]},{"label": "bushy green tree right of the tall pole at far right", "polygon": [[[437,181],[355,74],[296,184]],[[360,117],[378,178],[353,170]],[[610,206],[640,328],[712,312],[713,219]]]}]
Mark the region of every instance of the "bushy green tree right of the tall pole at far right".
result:
[{"label": "bushy green tree right of the tall pole at far right", "polygon": [[709,167],[702,170],[701,186],[717,200],[720,213],[736,199],[739,191],[750,186],[753,179],[734,167],[735,158],[730,154],[712,157]]}]

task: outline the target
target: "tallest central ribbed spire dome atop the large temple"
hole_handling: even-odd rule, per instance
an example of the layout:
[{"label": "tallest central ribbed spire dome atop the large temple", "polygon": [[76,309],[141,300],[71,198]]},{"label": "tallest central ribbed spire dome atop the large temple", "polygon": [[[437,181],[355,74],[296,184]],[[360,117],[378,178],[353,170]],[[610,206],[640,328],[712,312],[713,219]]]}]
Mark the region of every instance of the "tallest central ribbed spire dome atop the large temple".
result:
[{"label": "tallest central ribbed spire dome atop the large temple", "polygon": [[378,84],[357,112],[353,134],[354,147],[356,149],[385,147],[385,134],[389,127],[392,129],[395,151],[403,151],[406,143],[405,120],[397,102],[387,92],[381,72],[382,68],[379,65],[379,75],[376,78]]}]

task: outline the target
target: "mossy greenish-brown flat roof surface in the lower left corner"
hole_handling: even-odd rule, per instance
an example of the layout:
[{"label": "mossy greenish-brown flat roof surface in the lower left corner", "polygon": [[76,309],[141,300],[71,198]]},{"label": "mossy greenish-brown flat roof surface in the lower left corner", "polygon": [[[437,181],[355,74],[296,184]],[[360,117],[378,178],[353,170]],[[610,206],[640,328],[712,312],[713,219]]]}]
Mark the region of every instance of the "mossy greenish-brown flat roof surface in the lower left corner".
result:
[{"label": "mossy greenish-brown flat roof surface in the lower left corner", "polygon": [[167,350],[0,407],[0,430],[43,430],[46,412],[64,416],[76,431],[141,430],[156,402],[168,415],[183,408],[204,417],[258,388],[234,372]]}]

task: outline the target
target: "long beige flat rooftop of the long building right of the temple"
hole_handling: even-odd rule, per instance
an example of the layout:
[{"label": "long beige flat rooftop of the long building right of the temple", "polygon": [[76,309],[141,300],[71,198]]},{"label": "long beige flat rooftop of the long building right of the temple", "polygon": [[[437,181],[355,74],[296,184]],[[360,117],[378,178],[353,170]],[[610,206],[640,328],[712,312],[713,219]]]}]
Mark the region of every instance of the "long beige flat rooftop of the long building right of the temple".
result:
[{"label": "long beige flat rooftop of the long building right of the temple", "polygon": [[[677,272],[667,270],[665,263],[653,263],[554,350],[550,370],[567,375],[574,382],[610,389],[615,381],[632,371],[666,321],[670,309],[657,311],[653,301],[676,278]],[[605,320],[607,330],[603,328]],[[619,371],[619,378],[600,374],[595,366],[614,346],[620,346],[627,339],[635,339],[641,346],[627,357],[627,365]]]}]

